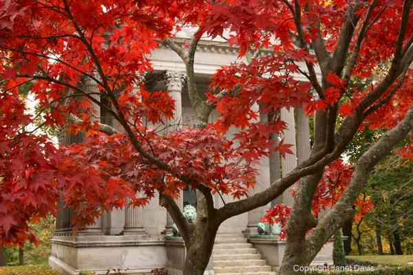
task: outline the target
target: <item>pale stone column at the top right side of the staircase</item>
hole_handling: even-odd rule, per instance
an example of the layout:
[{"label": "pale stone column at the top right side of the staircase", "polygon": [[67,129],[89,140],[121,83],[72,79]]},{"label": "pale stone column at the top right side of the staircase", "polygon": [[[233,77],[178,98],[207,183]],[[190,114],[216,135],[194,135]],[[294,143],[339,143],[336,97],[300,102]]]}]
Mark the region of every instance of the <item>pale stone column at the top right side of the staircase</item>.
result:
[{"label": "pale stone column at the top right side of the staircase", "polygon": [[[253,104],[251,107],[253,111],[259,113],[260,121],[266,122],[267,117],[264,113],[260,113],[260,107],[258,104]],[[253,189],[248,191],[248,195],[254,195],[257,192],[261,192],[270,186],[270,164],[268,157],[261,159],[258,166],[259,175],[255,178],[256,183]],[[255,208],[254,210],[248,211],[248,224],[246,225],[246,234],[257,234],[257,224],[260,223],[262,216],[264,216],[265,211],[268,209],[268,206],[262,206]]]}]

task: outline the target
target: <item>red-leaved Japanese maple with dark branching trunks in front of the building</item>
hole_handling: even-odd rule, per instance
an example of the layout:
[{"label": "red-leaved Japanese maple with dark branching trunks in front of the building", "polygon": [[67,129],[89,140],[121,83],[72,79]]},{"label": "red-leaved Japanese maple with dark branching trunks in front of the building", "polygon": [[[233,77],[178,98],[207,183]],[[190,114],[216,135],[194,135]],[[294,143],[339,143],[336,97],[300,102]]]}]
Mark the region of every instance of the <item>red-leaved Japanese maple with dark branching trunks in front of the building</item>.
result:
[{"label": "red-leaved Japanese maple with dark branching trunks in front of the building", "polygon": [[[290,274],[293,265],[309,264],[353,214],[368,173],[413,126],[412,0],[0,3],[2,244],[31,238],[28,221],[53,213],[61,197],[81,210],[74,222],[82,226],[127,198],[144,205],[158,191],[187,246],[184,274],[203,274],[220,223],[266,205],[298,181],[280,268]],[[183,26],[196,32],[182,45],[174,37]],[[203,36],[222,36],[246,57],[218,70],[207,96],[194,73]],[[149,56],[160,43],[186,67],[195,129],[159,135],[143,123],[173,116],[167,92],[148,91],[141,77],[151,72]],[[383,63],[389,69],[372,82]],[[352,87],[355,78],[366,85]],[[70,124],[71,133],[86,133],[85,142],[58,149],[25,131],[34,120],[18,93],[25,83],[44,111],[43,126]],[[90,83],[98,89],[88,89]],[[257,120],[257,105],[266,120]],[[121,131],[98,122],[96,106]],[[208,123],[215,108],[220,118]],[[260,159],[291,153],[290,144],[273,142],[286,127],[283,108],[315,115],[310,157],[270,188],[244,197]],[[231,126],[240,129],[233,140],[224,135]],[[311,206],[324,168],[367,126],[388,131],[359,157],[341,197],[317,221]],[[198,193],[193,223],[173,200],[188,184]],[[138,191],[146,197],[136,197]],[[215,208],[215,192],[240,199]]]}]

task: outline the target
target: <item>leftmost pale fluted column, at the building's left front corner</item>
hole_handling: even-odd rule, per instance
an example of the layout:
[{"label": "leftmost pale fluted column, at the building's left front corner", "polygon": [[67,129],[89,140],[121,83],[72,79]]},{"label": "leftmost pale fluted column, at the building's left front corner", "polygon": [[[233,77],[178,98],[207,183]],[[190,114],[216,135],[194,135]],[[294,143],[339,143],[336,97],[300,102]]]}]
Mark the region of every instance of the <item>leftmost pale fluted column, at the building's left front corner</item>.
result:
[{"label": "leftmost pale fluted column, at the building's left front corner", "polygon": [[[87,78],[85,80],[85,89],[89,93],[99,92],[98,84],[96,83],[96,81],[92,80],[91,78]],[[91,96],[100,102],[100,95],[94,94]],[[100,105],[93,102],[92,100],[91,100],[91,104],[92,104],[92,107],[91,107],[92,122],[96,120],[100,121]],[[103,234],[103,231],[102,231],[102,217],[101,216],[96,218],[92,225],[86,225],[85,228],[78,231],[78,235],[94,236],[94,235],[102,235],[102,234]]]}]

